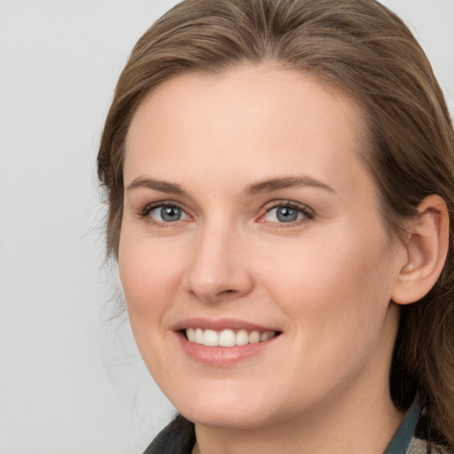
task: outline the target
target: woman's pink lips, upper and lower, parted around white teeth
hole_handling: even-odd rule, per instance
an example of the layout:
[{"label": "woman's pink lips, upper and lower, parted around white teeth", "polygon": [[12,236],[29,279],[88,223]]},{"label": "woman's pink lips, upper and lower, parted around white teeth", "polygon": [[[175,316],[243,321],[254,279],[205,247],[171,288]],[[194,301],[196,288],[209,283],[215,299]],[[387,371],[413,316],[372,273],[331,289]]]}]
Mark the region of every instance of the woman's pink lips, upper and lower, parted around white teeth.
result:
[{"label": "woman's pink lips, upper and lower, parted around white teeth", "polygon": [[186,328],[211,329],[215,331],[222,331],[223,329],[245,329],[247,331],[256,330],[261,333],[267,331],[281,333],[280,330],[273,327],[256,325],[234,318],[209,320],[207,318],[196,317],[178,322],[173,329],[184,353],[198,363],[211,365],[213,367],[228,367],[245,361],[252,356],[260,355],[268,348],[272,347],[275,342],[278,342],[280,335],[254,344],[237,345],[235,347],[207,347],[187,340],[183,333]]}]

